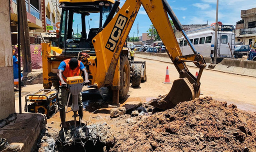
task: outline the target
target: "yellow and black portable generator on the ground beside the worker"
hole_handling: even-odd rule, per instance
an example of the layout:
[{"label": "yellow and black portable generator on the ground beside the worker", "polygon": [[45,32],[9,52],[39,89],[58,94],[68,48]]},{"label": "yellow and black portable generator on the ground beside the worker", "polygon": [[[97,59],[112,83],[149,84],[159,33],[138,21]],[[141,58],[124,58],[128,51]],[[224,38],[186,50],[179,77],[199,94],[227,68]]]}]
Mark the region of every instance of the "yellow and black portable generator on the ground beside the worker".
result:
[{"label": "yellow and black portable generator on the ground beside the worker", "polygon": [[45,114],[47,118],[52,117],[58,111],[58,94],[55,89],[41,89],[34,94],[26,95],[25,111]]}]

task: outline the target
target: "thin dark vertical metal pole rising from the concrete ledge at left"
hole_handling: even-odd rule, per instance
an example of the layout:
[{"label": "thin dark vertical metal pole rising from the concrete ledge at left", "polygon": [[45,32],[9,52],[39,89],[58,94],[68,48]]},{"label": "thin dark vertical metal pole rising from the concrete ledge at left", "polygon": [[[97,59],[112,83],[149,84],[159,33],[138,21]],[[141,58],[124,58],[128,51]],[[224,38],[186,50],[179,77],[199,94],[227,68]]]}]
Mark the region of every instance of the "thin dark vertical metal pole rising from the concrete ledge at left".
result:
[{"label": "thin dark vertical metal pole rising from the concrete ledge at left", "polygon": [[18,7],[18,75],[19,75],[19,110],[20,114],[22,114],[22,99],[21,99],[21,68],[20,68],[20,4],[21,0],[17,1],[17,7]]}]

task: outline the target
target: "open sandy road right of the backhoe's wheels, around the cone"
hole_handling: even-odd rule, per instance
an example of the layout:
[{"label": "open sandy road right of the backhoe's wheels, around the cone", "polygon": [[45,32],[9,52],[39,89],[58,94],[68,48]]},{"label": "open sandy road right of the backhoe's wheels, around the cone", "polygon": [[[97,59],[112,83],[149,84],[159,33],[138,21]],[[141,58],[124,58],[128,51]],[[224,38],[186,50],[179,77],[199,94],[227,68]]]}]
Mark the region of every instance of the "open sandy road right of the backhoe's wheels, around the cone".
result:
[{"label": "open sandy road right of the backhoe's wheels, around the cone", "polygon": [[[143,61],[144,58],[136,58]],[[162,83],[165,79],[166,67],[169,67],[170,80],[178,79],[178,72],[173,64],[146,60],[146,73],[148,80],[141,84],[141,88],[130,88],[130,98],[142,98],[149,100],[159,94],[167,94],[172,84]],[[188,67],[192,74],[199,69]],[[200,97],[211,96],[218,101],[227,101],[228,104],[236,104],[242,110],[256,111],[256,79],[247,76],[239,76],[204,70],[201,77]],[[129,99],[132,100],[132,99]]]}]

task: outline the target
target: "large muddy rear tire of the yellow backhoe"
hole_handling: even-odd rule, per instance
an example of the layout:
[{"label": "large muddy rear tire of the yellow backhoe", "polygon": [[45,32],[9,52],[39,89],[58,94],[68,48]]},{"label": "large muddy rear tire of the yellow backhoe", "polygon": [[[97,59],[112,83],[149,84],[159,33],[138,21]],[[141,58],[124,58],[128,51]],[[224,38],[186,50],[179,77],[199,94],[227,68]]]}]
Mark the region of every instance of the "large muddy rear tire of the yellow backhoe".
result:
[{"label": "large muddy rear tire of the yellow backhoe", "polygon": [[119,99],[124,99],[129,91],[130,85],[130,65],[128,57],[120,55],[120,90]]}]

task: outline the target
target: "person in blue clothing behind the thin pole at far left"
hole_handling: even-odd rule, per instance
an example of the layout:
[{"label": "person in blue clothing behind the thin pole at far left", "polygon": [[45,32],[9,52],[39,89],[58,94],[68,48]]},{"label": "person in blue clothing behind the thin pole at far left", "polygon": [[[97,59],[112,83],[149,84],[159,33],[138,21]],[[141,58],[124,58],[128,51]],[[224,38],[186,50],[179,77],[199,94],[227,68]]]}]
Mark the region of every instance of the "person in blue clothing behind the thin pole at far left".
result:
[{"label": "person in blue clothing behind the thin pole at far left", "polygon": [[[13,49],[13,78],[14,78],[14,90],[19,90],[19,64],[18,64],[18,53],[16,52],[16,49]],[[23,78],[23,75],[20,73],[21,80]]]}]

